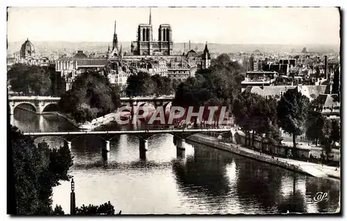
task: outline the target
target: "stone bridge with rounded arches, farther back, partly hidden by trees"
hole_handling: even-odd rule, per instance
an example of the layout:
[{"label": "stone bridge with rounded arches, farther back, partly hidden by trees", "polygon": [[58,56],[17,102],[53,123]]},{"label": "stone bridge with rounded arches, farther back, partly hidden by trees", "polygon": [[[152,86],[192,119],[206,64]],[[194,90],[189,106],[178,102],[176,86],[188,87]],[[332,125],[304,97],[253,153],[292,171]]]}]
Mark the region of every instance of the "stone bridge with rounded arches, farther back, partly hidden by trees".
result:
[{"label": "stone bridge with rounded arches, farther back, partly hidden by trees", "polygon": [[[36,114],[45,114],[46,109],[51,105],[57,105],[60,98],[57,97],[44,97],[44,96],[10,96],[8,98],[10,105],[10,114],[13,115],[15,108],[22,104],[28,104],[35,109]],[[174,96],[161,96],[161,97],[134,97],[134,98],[120,98],[121,106],[130,106],[133,111],[144,104],[151,104],[155,108],[158,106],[168,105]]]}]

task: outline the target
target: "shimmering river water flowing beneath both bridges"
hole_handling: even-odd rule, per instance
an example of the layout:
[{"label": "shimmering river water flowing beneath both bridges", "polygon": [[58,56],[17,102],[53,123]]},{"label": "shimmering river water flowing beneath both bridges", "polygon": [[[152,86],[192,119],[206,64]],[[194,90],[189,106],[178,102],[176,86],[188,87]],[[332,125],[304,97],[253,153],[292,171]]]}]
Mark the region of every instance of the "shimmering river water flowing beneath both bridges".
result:
[{"label": "shimmering river water flowing beneath both bridges", "polygon": [[[22,109],[15,110],[10,122],[24,132],[76,130],[59,116]],[[114,123],[103,128],[122,129]],[[63,145],[57,137],[44,140]],[[69,173],[77,206],[110,201],[122,214],[235,214],[334,212],[339,205],[340,182],[335,179],[301,175],[189,141],[185,152],[177,152],[170,134],[149,139],[146,159],[139,157],[137,137],[116,137],[110,141],[108,166],[101,157],[103,145],[97,136],[72,141]],[[60,204],[69,213],[70,191],[69,182],[54,188],[53,206]],[[319,192],[328,193],[328,200],[314,202]]]}]

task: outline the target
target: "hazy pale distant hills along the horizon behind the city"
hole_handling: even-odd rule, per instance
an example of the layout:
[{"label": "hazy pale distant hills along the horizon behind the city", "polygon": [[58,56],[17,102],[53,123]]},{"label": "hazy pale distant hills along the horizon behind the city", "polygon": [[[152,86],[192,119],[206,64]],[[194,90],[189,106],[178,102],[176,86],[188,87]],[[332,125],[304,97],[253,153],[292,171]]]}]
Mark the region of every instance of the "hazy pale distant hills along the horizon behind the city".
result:
[{"label": "hazy pale distant hills along the horizon behind the city", "polygon": [[[20,50],[24,42],[9,42],[8,54],[13,54]],[[35,51],[38,54],[64,53],[77,50],[105,52],[108,45],[112,47],[112,42],[32,42]],[[130,42],[119,42],[123,51],[130,51]],[[208,43],[210,53],[235,53],[235,52],[253,52],[259,50],[262,52],[291,52],[301,53],[306,47],[308,52],[318,53],[338,53],[338,45],[285,45],[285,44],[213,44]],[[174,53],[183,53],[189,51],[189,44],[174,43]],[[191,49],[203,51],[205,44],[191,43]]]}]

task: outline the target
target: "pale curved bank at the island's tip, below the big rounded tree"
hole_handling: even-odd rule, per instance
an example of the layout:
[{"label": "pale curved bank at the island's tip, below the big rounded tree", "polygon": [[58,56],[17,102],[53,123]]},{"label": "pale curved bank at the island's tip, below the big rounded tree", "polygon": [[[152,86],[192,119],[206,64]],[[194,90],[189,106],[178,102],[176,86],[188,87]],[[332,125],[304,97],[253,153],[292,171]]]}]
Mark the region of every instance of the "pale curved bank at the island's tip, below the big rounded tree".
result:
[{"label": "pale curved bank at the island's tip, below the big rounded tree", "polygon": [[67,114],[62,114],[60,112],[56,112],[56,114],[58,116],[61,116],[67,119],[69,123],[74,125],[74,127],[76,127],[79,130],[94,130],[96,127],[105,125],[106,123],[110,123],[111,121],[115,121],[115,118],[116,118],[116,113],[110,113],[110,114],[106,114],[105,116],[95,118],[94,120],[88,123],[76,123],[76,121],[74,119],[69,118]]}]

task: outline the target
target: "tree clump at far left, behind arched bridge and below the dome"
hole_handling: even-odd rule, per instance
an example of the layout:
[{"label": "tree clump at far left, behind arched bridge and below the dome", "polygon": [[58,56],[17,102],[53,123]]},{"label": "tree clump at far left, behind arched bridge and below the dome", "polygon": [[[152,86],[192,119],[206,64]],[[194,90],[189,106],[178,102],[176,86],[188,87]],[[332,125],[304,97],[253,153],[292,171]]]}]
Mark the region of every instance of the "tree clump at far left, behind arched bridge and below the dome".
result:
[{"label": "tree clump at far left, behind arched bridge and below the dome", "polygon": [[50,73],[40,66],[17,63],[8,71],[12,91],[26,96],[44,96],[51,92]]}]

